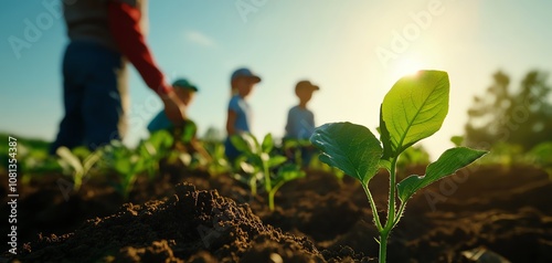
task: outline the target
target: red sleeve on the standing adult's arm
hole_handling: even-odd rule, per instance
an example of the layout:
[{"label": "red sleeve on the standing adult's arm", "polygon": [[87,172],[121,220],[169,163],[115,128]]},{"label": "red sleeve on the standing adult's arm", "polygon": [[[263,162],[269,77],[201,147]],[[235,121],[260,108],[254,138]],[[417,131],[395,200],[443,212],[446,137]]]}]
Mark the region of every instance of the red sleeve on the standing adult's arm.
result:
[{"label": "red sleeve on the standing adult's arm", "polygon": [[144,82],[156,93],[169,93],[172,87],[164,82],[163,73],[153,61],[140,30],[140,10],[127,3],[109,3],[109,29],[121,53],[140,73]]}]

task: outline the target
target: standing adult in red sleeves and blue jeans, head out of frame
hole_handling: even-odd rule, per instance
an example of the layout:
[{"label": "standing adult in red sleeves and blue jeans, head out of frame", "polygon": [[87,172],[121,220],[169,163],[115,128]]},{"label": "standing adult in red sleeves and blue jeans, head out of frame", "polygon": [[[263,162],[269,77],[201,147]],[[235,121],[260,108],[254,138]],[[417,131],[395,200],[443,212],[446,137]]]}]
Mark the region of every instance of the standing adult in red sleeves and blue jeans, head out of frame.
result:
[{"label": "standing adult in red sleeves and blue jeans, head out of frame", "polygon": [[185,119],[183,104],[166,83],[144,36],[146,0],[63,1],[70,43],[63,57],[65,116],[50,152],[65,146],[95,149],[120,140],[129,106],[126,61],[163,102],[174,124]]}]

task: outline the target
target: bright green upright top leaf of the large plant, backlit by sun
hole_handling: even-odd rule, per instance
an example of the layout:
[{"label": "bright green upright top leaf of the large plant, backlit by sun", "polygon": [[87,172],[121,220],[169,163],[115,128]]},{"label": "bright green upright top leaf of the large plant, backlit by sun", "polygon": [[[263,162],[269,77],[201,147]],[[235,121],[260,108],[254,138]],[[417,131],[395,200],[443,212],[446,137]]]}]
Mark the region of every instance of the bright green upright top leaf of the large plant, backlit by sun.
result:
[{"label": "bright green upright top leaf of the large plant, backlit by sun", "polygon": [[394,157],[440,128],[448,113],[449,85],[446,72],[420,71],[402,77],[389,91],[380,125],[385,125]]}]

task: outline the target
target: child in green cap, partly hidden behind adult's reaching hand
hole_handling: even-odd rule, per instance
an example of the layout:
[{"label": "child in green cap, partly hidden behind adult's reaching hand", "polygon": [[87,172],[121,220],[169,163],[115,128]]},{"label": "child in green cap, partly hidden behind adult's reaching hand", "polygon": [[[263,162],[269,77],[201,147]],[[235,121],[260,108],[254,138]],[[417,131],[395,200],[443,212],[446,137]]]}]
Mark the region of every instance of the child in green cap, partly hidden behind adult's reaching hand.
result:
[{"label": "child in green cap, partly hidden behind adult's reaching hand", "polygon": [[[180,98],[180,101],[188,107],[198,92],[198,87],[190,83],[185,78],[179,78],[172,83],[174,87],[174,93]],[[198,128],[191,119],[187,119],[181,126],[174,126],[171,120],[167,117],[164,111],[161,111],[148,125],[149,133],[155,133],[161,129],[169,130],[174,136],[173,148],[187,151],[189,154],[198,152],[202,155],[208,160],[210,159],[209,154],[198,141],[195,133]]]}]

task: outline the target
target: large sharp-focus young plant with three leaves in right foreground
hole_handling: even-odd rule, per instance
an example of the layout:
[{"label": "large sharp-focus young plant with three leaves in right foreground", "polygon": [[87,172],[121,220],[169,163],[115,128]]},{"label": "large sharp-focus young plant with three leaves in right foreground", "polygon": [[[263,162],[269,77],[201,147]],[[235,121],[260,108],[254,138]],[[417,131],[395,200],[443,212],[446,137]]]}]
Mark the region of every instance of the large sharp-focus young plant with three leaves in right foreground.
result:
[{"label": "large sharp-focus young plant with three leaves in right foreground", "polygon": [[[399,80],[383,98],[380,107],[380,139],[367,127],[351,123],[325,124],[310,138],[322,152],[321,161],[361,182],[380,232],[380,262],[385,262],[388,238],[399,223],[408,199],[417,190],[453,175],[486,154],[455,147],[429,164],[425,176],[410,176],[396,183],[399,157],[405,149],[440,128],[448,113],[448,96],[446,72],[421,71]],[[385,168],[390,173],[388,218],[384,222],[378,215],[369,189],[369,182],[379,168]]]}]

